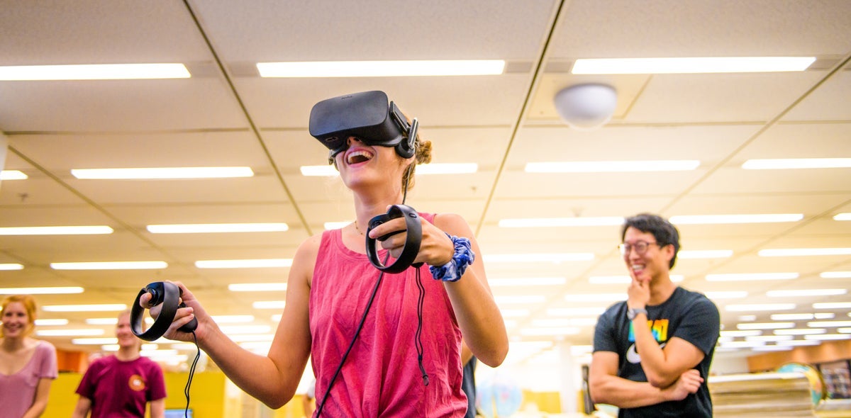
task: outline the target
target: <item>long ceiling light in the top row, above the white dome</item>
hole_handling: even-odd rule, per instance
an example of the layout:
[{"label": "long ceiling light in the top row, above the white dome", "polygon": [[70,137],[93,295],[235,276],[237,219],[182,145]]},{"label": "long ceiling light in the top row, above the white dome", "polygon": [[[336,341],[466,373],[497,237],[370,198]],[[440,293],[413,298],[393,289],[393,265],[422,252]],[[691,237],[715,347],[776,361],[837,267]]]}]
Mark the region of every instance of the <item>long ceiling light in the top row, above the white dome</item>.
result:
[{"label": "long ceiling light in the top row, above the white dome", "polygon": [[577,59],[573,74],[697,74],[804,71],[815,57]]}]

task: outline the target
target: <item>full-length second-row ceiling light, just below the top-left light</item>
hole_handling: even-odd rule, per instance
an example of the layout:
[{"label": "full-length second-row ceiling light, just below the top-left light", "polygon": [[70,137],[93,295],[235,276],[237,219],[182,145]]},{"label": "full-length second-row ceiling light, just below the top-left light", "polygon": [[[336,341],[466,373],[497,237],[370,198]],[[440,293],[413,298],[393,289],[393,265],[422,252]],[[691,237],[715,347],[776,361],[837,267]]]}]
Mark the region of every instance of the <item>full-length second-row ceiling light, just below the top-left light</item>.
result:
[{"label": "full-length second-row ceiling light, just below the top-left light", "polygon": [[172,178],[245,178],[251,167],[74,168],[71,175],[85,180],[161,180]]}]

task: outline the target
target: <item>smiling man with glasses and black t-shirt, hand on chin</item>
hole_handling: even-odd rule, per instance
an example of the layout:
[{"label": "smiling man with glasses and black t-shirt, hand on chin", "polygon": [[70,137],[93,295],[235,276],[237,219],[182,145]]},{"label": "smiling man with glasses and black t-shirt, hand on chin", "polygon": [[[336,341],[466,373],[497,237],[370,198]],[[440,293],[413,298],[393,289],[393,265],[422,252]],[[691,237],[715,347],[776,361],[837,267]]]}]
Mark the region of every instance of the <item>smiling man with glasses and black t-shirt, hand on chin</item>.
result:
[{"label": "smiling man with glasses and black t-shirt, hand on chin", "polygon": [[718,308],[671,281],[680,243],[667,220],[629,217],[620,235],[631,283],[627,300],[597,321],[591,398],[617,406],[619,417],[711,417],[706,379],[721,328]]}]

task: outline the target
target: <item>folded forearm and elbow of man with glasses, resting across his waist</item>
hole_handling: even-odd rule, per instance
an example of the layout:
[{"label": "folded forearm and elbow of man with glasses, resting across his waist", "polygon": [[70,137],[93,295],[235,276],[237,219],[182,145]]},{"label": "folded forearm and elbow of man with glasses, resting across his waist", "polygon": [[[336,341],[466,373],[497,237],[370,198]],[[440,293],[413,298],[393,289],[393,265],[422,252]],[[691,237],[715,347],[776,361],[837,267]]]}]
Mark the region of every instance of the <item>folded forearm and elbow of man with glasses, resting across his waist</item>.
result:
[{"label": "folded forearm and elbow of man with glasses, resting across his waist", "polygon": [[703,378],[698,370],[687,370],[669,387],[660,389],[647,382],[631,381],[617,376],[618,354],[598,351],[591,358],[588,376],[591,399],[595,404],[610,404],[630,409],[682,400],[697,392]]}]

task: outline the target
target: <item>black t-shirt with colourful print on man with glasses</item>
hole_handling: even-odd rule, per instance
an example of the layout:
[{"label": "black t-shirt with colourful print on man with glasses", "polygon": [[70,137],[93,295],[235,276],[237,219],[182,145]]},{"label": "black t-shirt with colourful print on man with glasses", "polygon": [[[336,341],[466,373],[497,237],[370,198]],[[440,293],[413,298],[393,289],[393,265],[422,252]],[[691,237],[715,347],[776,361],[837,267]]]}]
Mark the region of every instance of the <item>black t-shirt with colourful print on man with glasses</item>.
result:
[{"label": "black t-shirt with colourful print on man with glasses", "polygon": [[[702,293],[677,287],[671,297],[660,305],[647,307],[647,318],[656,342],[661,347],[672,337],[694,344],[705,356],[695,367],[704,382],[697,393],[681,401],[668,401],[629,410],[621,409],[619,417],[711,417],[712,402],[706,384],[709,366],[721,330],[721,317],[715,303]],[[626,302],[615,303],[600,315],[594,331],[594,351],[618,353],[618,376],[631,381],[647,381],[636,352],[632,324],[626,318]]]}]

